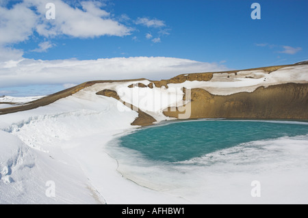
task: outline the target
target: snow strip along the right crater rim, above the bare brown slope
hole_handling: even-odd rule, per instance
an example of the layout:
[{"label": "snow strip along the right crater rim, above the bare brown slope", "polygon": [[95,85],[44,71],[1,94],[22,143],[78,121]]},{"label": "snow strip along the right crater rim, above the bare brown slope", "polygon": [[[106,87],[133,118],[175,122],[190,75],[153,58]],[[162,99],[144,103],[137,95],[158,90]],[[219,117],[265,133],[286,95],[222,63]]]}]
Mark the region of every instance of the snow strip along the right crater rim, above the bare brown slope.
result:
[{"label": "snow strip along the right crater rim, above the bare brown slope", "polygon": [[[185,81],[180,84],[170,83],[168,87],[203,88],[216,95],[229,95],[238,92],[253,92],[257,87],[283,83],[307,83],[308,66],[290,66],[270,72],[264,70],[242,70],[235,73],[217,73],[210,81]],[[228,78],[229,76],[229,78]],[[252,77],[252,78],[251,78]]]}]

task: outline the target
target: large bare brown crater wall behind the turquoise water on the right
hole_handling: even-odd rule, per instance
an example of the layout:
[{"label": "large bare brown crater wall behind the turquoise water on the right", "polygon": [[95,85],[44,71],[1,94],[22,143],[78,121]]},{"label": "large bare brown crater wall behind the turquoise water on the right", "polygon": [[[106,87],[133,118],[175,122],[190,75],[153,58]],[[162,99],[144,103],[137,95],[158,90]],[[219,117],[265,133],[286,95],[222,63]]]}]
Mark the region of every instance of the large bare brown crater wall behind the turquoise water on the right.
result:
[{"label": "large bare brown crater wall behind the turquoise water on the right", "polygon": [[[191,90],[190,118],[249,118],[308,120],[308,83],[287,83],[258,87],[254,92],[229,96],[213,95],[196,88]],[[173,111],[172,111],[173,110]],[[164,115],[179,118],[183,108],[168,108]]]}]

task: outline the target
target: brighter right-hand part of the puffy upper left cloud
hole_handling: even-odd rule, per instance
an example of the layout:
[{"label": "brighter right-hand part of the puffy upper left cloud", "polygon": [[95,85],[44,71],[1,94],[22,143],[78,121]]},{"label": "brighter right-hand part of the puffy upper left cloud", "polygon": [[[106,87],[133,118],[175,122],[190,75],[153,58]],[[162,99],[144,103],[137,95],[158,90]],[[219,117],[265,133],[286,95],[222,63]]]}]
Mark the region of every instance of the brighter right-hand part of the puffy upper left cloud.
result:
[{"label": "brighter right-hand part of the puffy upper left cloud", "polygon": [[[49,0],[25,0],[36,5],[38,12],[44,15],[44,6]],[[114,21],[110,13],[99,8],[94,1],[82,2],[84,10],[72,8],[60,0],[54,0],[55,20],[41,19],[37,31],[42,36],[67,35],[76,38],[94,38],[99,36],[127,36],[131,29]]]}]

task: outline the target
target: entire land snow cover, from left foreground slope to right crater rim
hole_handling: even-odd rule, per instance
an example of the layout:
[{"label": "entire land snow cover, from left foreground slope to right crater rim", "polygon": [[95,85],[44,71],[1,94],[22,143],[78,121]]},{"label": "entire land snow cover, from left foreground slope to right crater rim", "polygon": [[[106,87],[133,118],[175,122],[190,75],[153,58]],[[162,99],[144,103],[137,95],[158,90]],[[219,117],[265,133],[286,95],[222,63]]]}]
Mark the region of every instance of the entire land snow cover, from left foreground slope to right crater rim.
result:
[{"label": "entire land snow cover, from left foreground slope to right crater rim", "polygon": [[[169,89],[129,88],[131,81],[97,83],[51,105],[0,115],[0,204],[202,203],[136,185],[117,171],[118,163],[108,154],[107,144],[118,135],[134,131],[138,126],[130,124],[138,113],[96,93],[115,90],[121,100],[138,106],[159,122],[170,120],[162,109],[184,104],[182,87],[201,87],[212,94],[227,95],[253,92],[261,85],[308,82],[307,65],[270,74],[246,70],[227,76],[214,74],[211,81],[172,83]],[[148,85],[150,81],[133,83]],[[0,101],[27,103],[35,99],[6,97]],[[53,183],[54,197],[48,195]]]}]

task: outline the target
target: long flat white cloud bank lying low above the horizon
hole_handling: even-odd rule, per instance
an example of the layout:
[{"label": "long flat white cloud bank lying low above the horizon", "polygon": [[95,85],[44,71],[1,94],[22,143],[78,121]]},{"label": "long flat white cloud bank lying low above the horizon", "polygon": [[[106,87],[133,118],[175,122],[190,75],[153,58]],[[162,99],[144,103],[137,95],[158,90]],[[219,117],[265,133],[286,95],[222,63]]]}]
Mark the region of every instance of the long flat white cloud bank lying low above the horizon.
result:
[{"label": "long flat white cloud bank lying low above the horizon", "polygon": [[[5,67],[6,66],[6,67]],[[0,87],[42,84],[79,84],[107,79],[168,79],[188,72],[228,70],[216,63],[172,57],[116,57],[111,59],[23,59],[0,64]],[[86,73],[85,73],[86,72]]]}]

